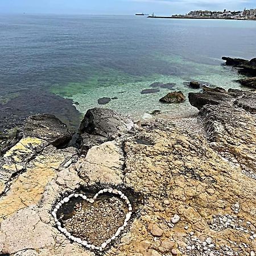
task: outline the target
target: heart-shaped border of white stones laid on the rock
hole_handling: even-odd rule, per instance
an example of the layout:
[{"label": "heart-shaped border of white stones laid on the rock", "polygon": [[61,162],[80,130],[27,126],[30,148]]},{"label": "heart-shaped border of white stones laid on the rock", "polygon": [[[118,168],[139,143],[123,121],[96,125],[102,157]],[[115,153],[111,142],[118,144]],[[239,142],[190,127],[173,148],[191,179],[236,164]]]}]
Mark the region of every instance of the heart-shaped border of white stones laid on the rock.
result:
[{"label": "heart-shaped border of white stones laid on the rock", "polygon": [[[66,204],[69,202],[69,200],[72,198],[72,197],[81,197],[83,200],[86,200],[88,201],[89,203],[93,204],[94,201],[97,199],[97,197],[101,194],[104,194],[104,193],[110,193],[110,194],[113,194],[113,195],[119,195],[119,197],[125,201],[125,203],[127,204],[127,207],[128,207],[128,210],[129,212],[126,214],[126,218],[125,218],[125,221],[123,222],[123,225],[120,226],[118,229],[117,229],[117,232],[115,232],[114,236],[109,238],[108,240],[106,240],[104,243],[102,243],[101,246],[95,246],[93,244],[90,244],[89,242],[87,241],[84,241],[84,240],[81,240],[79,237],[74,237],[71,235],[71,233],[68,232],[67,229],[63,228],[61,226],[61,223],[60,221],[57,219],[57,211],[60,209],[61,205],[63,204]],[[80,243],[82,246],[85,246],[86,248],[88,249],[92,249],[92,250],[99,250],[99,251],[102,251],[106,248],[106,246],[114,241],[122,232],[122,230],[125,229],[125,227],[127,226],[128,224],[128,221],[130,220],[131,218],[131,214],[133,212],[133,208],[131,206],[131,203],[130,203],[130,200],[127,198],[127,196],[122,192],[122,191],[119,191],[117,189],[113,189],[113,188],[104,188],[104,189],[101,189],[100,191],[98,191],[93,199],[89,199],[87,196],[83,195],[83,194],[77,194],[77,193],[72,193],[71,195],[67,196],[67,197],[64,197],[63,200],[60,200],[59,203],[56,204],[55,208],[53,209],[53,212],[52,212],[52,216],[54,218],[54,221],[56,223],[56,226],[57,226],[57,229],[60,230],[61,233],[63,233],[69,240],[72,240],[73,242],[77,242],[77,243]]]}]

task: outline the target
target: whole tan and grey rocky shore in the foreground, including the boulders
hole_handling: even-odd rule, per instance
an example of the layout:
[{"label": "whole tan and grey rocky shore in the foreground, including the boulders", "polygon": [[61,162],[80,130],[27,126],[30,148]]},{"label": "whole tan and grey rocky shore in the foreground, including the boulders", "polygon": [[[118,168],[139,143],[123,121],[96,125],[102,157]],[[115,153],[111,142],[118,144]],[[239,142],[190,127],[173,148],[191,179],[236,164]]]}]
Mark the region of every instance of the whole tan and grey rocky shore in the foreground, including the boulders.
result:
[{"label": "whole tan and grey rocky shore in the foreground, including the boulders", "polygon": [[256,93],[189,101],[198,117],[140,125],[88,110],[77,147],[46,114],[2,138],[1,255],[255,255]]}]

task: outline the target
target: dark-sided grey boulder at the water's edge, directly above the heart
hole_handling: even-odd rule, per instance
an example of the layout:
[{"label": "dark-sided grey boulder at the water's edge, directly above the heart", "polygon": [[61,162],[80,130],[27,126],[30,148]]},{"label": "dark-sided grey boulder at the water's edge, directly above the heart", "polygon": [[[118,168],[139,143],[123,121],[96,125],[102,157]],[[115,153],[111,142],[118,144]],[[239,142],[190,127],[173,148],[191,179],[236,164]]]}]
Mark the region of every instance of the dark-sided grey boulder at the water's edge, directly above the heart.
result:
[{"label": "dark-sided grey boulder at the water's edge, directly above the heart", "polygon": [[79,129],[81,150],[86,152],[94,145],[112,141],[132,127],[131,119],[122,117],[113,110],[90,109],[86,112]]}]

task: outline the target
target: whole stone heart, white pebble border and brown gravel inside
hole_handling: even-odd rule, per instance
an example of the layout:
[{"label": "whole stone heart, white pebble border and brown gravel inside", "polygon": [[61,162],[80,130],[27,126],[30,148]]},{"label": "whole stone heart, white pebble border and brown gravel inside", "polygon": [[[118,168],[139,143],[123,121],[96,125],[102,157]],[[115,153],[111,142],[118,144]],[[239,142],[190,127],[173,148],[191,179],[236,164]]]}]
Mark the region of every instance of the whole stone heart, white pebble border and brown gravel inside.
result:
[{"label": "whole stone heart, white pebble border and brown gravel inside", "polygon": [[71,194],[56,204],[52,216],[69,240],[93,250],[104,250],[127,226],[133,208],[122,191],[100,190],[87,198]]}]

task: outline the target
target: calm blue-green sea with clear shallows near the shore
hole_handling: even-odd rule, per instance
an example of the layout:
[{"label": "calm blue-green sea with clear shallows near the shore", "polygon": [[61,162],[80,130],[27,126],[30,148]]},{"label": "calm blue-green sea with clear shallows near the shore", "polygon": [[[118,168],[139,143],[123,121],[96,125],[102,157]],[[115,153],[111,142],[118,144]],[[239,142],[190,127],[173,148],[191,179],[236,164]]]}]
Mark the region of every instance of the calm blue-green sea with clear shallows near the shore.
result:
[{"label": "calm blue-green sea with clear shallows near the shore", "polygon": [[[222,56],[256,57],[254,20],[0,15],[0,106],[14,115],[53,113],[71,124],[94,107],[134,119],[154,110],[189,115],[197,109],[188,99],[159,99],[172,91],[200,92],[189,81],[246,89]],[[141,94],[154,82],[174,86]],[[113,99],[99,105],[102,97]]]}]

